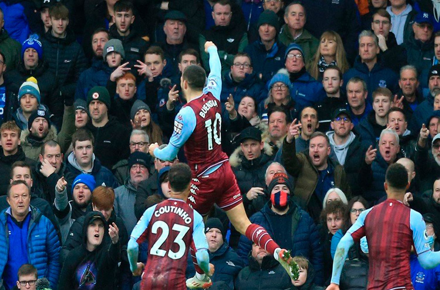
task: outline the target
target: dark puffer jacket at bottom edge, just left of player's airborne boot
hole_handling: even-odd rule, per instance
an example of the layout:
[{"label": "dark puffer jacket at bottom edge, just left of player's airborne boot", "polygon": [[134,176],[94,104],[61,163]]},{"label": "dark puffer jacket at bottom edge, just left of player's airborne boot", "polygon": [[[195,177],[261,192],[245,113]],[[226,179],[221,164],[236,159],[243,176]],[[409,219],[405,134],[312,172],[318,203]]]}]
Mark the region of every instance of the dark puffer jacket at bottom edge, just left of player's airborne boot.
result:
[{"label": "dark puffer jacket at bottom edge, just left of player's airborne boot", "polygon": [[292,283],[286,270],[270,254],[258,264],[249,253],[249,266],[243,268],[235,279],[235,290],[283,290]]}]

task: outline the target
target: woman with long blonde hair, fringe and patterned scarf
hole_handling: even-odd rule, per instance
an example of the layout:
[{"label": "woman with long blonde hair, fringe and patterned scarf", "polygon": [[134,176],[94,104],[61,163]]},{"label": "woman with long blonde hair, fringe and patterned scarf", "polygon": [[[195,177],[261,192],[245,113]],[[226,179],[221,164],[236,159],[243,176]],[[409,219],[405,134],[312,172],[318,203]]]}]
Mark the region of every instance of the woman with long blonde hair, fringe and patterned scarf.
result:
[{"label": "woman with long blonde hair, fringe and patterned scarf", "polygon": [[307,65],[307,71],[316,80],[322,80],[326,67],[337,66],[345,73],[350,66],[345,55],[344,44],[338,33],[327,30],[321,35],[319,48]]}]

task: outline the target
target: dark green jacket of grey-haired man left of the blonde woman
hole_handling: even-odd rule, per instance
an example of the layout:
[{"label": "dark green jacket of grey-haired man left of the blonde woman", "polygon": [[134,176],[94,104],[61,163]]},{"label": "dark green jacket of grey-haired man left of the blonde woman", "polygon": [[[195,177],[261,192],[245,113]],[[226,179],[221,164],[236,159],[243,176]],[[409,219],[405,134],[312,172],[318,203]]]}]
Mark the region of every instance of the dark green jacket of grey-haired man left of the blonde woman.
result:
[{"label": "dark green jacket of grey-haired man left of the blonde woman", "polygon": [[310,59],[312,59],[313,55],[315,55],[315,52],[319,48],[319,40],[310,34],[306,29],[303,29],[303,32],[299,37],[293,39],[287,24],[282,26],[278,40],[281,41],[282,44],[286,45],[286,47],[288,47],[291,43],[299,44],[304,51],[304,63],[307,63]]}]

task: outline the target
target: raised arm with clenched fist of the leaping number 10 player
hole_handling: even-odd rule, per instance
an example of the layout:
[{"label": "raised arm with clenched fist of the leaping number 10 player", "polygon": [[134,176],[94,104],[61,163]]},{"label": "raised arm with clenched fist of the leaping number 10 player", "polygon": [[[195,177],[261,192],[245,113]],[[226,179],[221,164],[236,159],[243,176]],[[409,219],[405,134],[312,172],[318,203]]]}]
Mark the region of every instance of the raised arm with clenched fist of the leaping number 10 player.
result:
[{"label": "raised arm with clenched fist of the leaping number 10 player", "polygon": [[211,41],[205,42],[205,51],[209,53],[208,82],[203,89],[203,93],[211,92],[220,101],[221,93],[221,62],[216,45]]}]

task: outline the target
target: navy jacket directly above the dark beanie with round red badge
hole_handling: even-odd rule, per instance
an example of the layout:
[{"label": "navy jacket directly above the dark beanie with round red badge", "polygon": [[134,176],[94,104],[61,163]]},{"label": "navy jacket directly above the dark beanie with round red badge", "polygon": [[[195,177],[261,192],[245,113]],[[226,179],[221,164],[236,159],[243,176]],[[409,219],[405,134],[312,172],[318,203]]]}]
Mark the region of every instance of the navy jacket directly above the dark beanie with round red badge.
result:
[{"label": "navy jacket directly above the dark beanie with round red badge", "polygon": [[75,91],[75,99],[87,100],[88,91],[94,86],[106,87],[107,81],[110,79],[110,74],[113,73],[114,68],[103,62],[103,59],[94,58],[92,66],[84,70],[77,81],[77,88]]}]

